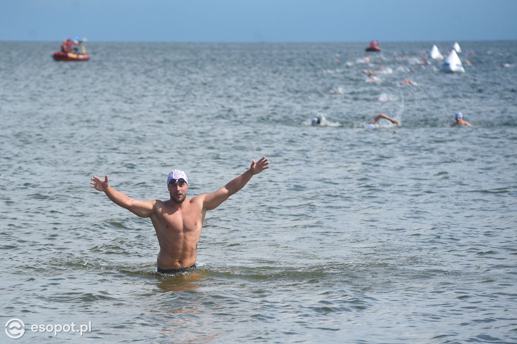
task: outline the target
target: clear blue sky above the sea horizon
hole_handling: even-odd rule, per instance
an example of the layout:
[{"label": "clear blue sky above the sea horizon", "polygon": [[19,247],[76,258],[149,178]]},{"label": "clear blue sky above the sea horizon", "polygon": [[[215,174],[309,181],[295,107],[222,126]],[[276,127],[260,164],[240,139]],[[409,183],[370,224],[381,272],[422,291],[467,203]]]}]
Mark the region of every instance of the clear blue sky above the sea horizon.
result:
[{"label": "clear blue sky above the sea horizon", "polygon": [[1,0],[0,40],[516,40],[517,0]]}]

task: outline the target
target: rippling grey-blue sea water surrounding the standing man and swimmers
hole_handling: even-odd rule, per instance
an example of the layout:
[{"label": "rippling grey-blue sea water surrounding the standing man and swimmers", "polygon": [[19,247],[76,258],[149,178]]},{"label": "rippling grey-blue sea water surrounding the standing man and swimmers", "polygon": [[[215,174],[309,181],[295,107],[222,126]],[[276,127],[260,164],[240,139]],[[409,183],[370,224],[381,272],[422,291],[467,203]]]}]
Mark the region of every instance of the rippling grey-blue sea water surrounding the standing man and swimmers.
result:
[{"label": "rippling grey-blue sea water surrounding the standing man and swimmers", "polygon": [[[462,74],[422,60],[453,42],[91,42],[87,62],[0,42],[2,324],[37,342],[516,342],[517,42],[459,43]],[[366,129],[378,113],[401,125]],[[264,155],[207,213],[196,273],[157,275],[149,219],[90,188],[165,200],[182,169],[194,196]]]}]

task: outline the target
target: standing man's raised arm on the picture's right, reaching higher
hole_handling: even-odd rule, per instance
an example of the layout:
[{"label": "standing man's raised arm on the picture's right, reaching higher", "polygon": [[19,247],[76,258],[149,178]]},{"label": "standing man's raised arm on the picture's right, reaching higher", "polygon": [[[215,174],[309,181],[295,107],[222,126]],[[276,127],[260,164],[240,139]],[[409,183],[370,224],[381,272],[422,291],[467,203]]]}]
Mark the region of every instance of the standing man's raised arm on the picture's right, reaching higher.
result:
[{"label": "standing man's raised arm on the picture's right, reaching higher", "polygon": [[222,202],[228,199],[228,197],[242,189],[242,187],[248,183],[251,177],[261,173],[265,169],[268,169],[269,167],[267,165],[269,165],[269,162],[266,157],[262,157],[257,162],[252,160],[250,168],[245,173],[241,174],[235,179],[232,179],[216,192],[205,195],[203,208],[205,210],[212,210],[217,208]]}]

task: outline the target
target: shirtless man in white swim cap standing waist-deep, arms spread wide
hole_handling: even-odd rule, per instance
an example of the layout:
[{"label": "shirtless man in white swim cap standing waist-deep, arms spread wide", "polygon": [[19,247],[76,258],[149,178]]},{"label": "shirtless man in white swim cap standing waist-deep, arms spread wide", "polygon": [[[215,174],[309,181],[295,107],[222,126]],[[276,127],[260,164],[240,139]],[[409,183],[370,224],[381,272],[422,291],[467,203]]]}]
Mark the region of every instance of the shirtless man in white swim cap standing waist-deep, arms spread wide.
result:
[{"label": "shirtless man in white swim cap standing waist-deep, arms spread wide", "polygon": [[91,186],[104,192],[116,205],[126,208],[140,217],[150,217],[156,230],[160,252],[158,272],[176,273],[195,268],[197,242],[207,210],[217,208],[223,201],[242,189],[256,174],[269,168],[266,157],[257,162],[252,160],[250,168],[211,194],[187,198],[188,179],[184,171],[173,170],[167,178],[170,199],[141,201],[132,199],[109,186],[108,176],[104,180],[94,176]]}]

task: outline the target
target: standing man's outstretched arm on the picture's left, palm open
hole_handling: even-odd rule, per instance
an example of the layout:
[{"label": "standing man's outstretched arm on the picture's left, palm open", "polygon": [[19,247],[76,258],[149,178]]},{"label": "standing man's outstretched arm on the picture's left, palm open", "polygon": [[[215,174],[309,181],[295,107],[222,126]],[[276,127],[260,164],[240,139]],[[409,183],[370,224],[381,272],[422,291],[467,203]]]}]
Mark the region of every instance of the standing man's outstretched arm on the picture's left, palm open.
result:
[{"label": "standing man's outstretched arm on the picture's left, palm open", "polygon": [[108,196],[114,204],[126,208],[130,212],[140,217],[149,217],[153,214],[155,200],[141,201],[129,198],[125,194],[116,191],[110,187],[108,176],[104,180],[97,176],[93,176],[91,186],[98,191],[102,191]]}]

